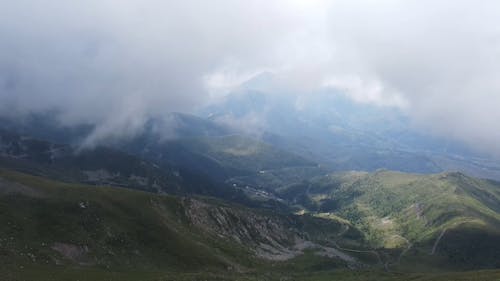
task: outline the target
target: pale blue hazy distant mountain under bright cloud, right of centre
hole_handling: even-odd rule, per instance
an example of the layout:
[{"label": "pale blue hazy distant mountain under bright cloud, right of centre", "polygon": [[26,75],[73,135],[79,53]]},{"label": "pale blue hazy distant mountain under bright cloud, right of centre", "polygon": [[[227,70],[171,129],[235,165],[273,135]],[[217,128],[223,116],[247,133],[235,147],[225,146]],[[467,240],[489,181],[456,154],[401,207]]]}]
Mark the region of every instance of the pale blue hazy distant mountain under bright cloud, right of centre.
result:
[{"label": "pale blue hazy distant mountain under bright cloud, right of centre", "polygon": [[337,171],[452,170],[500,179],[498,159],[418,130],[398,108],[355,102],[336,90],[288,93],[269,73],[254,79],[198,114]]}]

